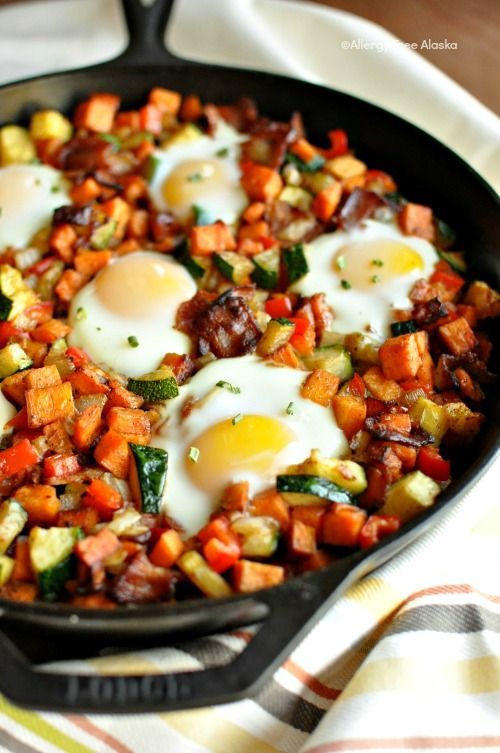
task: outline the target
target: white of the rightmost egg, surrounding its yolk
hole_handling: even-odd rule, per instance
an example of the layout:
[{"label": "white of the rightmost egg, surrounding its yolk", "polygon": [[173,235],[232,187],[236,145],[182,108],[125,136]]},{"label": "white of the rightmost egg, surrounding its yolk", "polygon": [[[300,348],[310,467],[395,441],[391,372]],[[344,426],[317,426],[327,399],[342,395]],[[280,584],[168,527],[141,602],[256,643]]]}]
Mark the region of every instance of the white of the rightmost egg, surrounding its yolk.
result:
[{"label": "white of the rightmost egg, surrounding its yolk", "polygon": [[[358,289],[342,287],[342,280],[349,282],[352,273],[352,258],[345,267],[339,268],[336,259],[343,247],[371,241],[400,243],[413,249],[420,257],[422,266],[403,275],[371,283],[371,277],[384,275],[383,267],[366,266],[367,285]],[[395,223],[367,220],[362,225],[345,232],[337,230],[316,238],[305,246],[309,272],[298,280],[291,290],[303,296],[323,292],[334,310],[333,329],[343,334],[369,332],[376,340],[390,336],[390,322],[394,309],[411,307],[408,298],[415,282],[432,274],[439,261],[434,246],[423,238],[403,235]],[[359,273],[359,270],[357,270]],[[385,272],[387,274],[387,272]]]}]

